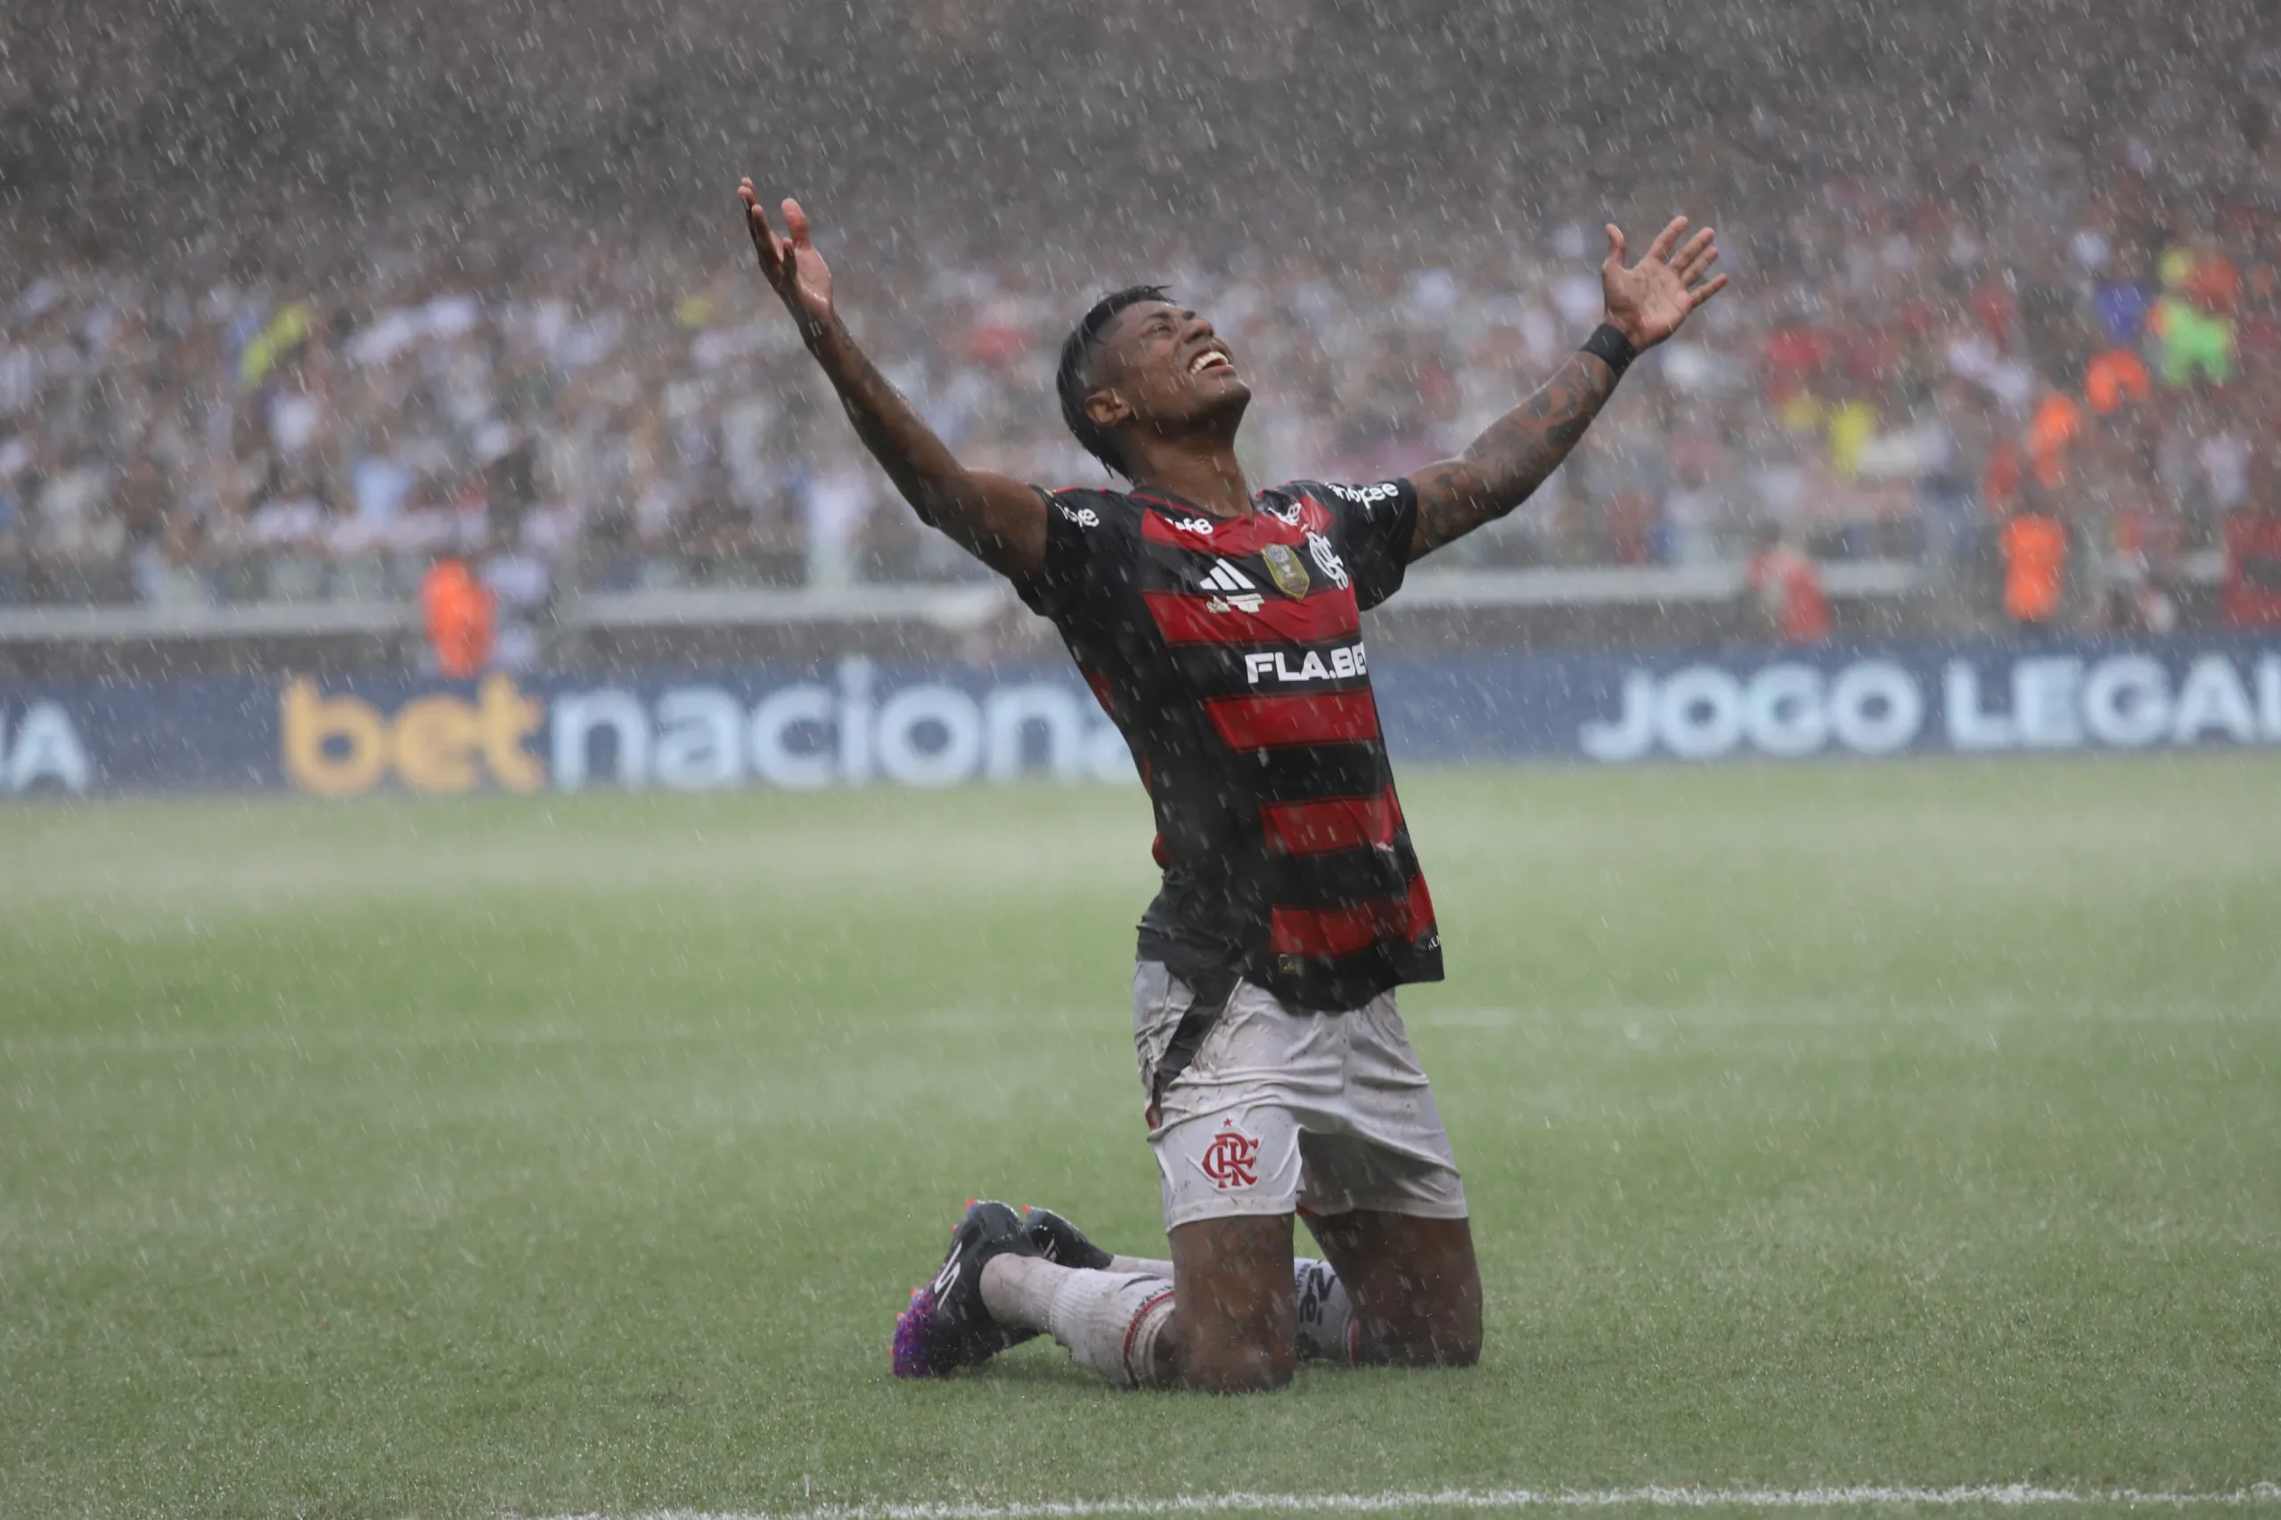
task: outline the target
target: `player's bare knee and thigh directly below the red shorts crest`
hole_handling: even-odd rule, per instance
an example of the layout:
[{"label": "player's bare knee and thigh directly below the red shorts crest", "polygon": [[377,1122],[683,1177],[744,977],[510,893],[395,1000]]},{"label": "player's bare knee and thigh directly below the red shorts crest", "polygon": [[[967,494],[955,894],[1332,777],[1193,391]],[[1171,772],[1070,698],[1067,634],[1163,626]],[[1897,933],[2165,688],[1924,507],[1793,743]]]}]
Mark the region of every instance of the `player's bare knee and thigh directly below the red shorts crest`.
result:
[{"label": "player's bare knee and thigh directly below the red shorts crest", "polygon": [[1159,1353],[1177,1388],[1261,1392],[1298,1367],[1291,1216],[1200,1219],[1172,1230],[1172,1326]]}]

